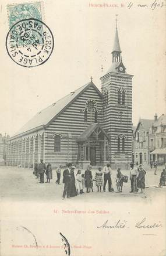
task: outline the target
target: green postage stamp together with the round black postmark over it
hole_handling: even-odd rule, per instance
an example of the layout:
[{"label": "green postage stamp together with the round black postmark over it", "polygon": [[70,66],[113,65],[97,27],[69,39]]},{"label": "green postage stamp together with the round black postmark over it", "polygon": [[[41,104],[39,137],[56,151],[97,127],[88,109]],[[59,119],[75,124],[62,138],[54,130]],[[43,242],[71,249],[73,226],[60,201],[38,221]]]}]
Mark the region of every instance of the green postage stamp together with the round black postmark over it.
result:
[{"label": "green postage stamp together with the round black postmark over it", "polygon": [[45,63],[54,49],[54,36],[43,22],[42,2],[8,5],[9,32],[6,50],[23,67]]}]

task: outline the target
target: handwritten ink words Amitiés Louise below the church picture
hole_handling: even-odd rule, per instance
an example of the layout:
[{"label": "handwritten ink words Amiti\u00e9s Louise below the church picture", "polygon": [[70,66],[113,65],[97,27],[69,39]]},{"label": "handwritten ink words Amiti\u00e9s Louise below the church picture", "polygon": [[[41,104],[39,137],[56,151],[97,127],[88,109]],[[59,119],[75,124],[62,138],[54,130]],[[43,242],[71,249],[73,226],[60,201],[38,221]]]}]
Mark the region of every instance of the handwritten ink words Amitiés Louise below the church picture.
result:
[{"label": "handwritten ink words Amiti\u00e9s Louise below the church picture", "polygon": [[[161,222],[158,221],[158,223],[147,223],[147,219],[144,217],[141,221],[135,223],[136,228],[159,228],[163,227]],[[115,222],[115,224],[108,224],[108,220],[104,222],[101,226],[97,226],[97,228],[129,228],[128,221],[127,220],[118,220]]]}]

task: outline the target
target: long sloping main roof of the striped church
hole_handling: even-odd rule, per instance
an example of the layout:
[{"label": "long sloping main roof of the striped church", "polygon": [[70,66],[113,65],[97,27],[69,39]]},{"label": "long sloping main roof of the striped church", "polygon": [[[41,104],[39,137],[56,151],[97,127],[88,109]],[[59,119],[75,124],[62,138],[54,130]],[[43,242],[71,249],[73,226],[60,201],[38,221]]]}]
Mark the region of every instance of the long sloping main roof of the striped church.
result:
[{"label": "long sloping main roof of the striped church", "polygon": [[43,127],[43,125],[47,125],[48,123],[50,123],[50,121],[52,121],[52,119],[55,118],[56,115],[63,111],[69,104],[71,104],[73,100],[76,100],[76,98],[79,97],[79,95],[90,86],[93,86],[97,90],[97,92],[102,95],[93,82],[87,83],[84,86],[78,88],[76,91],[72,91],[72,93],[66,95],[65,97],[51,104],[47,108],[44,108],[43,110],[38,112],[13,136],[23,134],[24,132],[28,131],[30,132],[34,128],[40,129]]}]

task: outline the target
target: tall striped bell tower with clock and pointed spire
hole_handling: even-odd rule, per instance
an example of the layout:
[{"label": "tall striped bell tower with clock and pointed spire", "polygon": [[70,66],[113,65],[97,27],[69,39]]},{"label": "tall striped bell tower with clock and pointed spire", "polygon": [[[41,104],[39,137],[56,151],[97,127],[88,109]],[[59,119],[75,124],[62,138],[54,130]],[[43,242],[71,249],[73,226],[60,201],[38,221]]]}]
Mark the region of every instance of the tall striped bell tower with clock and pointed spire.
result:
[{"label": "tall striped bell tower with clock and pointed spire", "polygon": [[100,78],[103,93],[103,128],[110,136],[109,162],[114,168],[129,168],[132,159],[132,75],[122,63],[117,15],[112,64]]}]

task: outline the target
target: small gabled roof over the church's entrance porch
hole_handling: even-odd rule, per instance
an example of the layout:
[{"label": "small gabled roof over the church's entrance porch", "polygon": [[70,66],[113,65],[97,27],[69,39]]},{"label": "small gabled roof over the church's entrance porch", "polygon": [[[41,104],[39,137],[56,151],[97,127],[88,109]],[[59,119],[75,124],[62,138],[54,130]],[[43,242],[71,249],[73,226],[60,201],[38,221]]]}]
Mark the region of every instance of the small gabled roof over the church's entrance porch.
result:
[{"label": "small gabled roof over the church's entrance porch", "polygon": [[100,128],[101,131],[107,136],[109,139],[108,134],[101,128],[100,124],[95,123],[95,124],[90,124],[83,132],[80,134],[80,136],[77,138],[77,141],[86,141],[87,138],[96,130],[96,128]]}]

